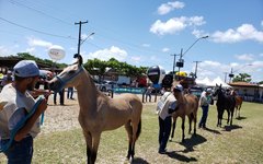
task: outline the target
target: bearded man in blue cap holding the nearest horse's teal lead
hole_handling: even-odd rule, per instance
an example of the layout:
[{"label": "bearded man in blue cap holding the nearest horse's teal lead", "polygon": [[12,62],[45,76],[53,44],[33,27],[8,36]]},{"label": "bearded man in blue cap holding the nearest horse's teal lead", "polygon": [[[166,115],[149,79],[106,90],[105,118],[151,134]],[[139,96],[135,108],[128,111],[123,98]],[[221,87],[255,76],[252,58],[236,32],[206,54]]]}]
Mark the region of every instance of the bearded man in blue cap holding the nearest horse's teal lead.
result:
[{"label": "bearded man in blue cap holding the nearest horse's teal lead", "polygon": [[[34,90],[39,70],[32,60],[22,60],[13,68],[14,82],[5,85],[0,93],[0,103],[4,102],[0,110],[0,145],[9,142],[10,132],[20,120],[28,114],[35,105],[35,99],[28,91]],[[18,131],[11,147],[4,152],[8,163],[30,164],[33,156],[33,138],[39,132],[39,115],[46,110],[46,99],[37,106],[35,113]]]}]

